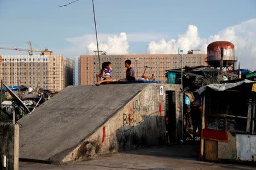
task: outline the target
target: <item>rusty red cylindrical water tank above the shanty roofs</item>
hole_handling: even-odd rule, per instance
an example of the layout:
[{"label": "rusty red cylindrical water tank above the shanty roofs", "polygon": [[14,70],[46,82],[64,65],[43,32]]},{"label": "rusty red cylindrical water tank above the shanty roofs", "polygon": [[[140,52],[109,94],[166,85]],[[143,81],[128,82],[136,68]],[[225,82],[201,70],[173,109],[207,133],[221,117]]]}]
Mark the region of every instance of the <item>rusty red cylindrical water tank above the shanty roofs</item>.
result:
[{"label": "rusty red cylindrical water tank above the shanty roofs", "polygon": [[207,46],[207,62],[210,66],[220,66],[221,48],[223,48],[223,65],[230,66],[237,61],[234,44],[228,41],[215,41]]}]

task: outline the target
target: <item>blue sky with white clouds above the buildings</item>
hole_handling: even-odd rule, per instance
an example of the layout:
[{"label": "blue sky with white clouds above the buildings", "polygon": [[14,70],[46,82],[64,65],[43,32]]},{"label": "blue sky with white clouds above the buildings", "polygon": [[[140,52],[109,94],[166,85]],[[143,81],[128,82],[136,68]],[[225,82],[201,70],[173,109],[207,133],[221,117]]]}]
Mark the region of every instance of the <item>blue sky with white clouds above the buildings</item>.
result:
[{"label": "blue sky with white clouds above the buildings", "polygon": [[[69,58],[91,53],[96,42],[92,1],[58,6],[69,2],[72,0],[0,0],[0,46],[28,48],[26,41],[30,40],[35,49],[48,48]],[[256,41],[256,1],[253,0],[94,0],[94,6],[101,48],[109,54],[174,53],[177,46],[182,47],[191,39],[190,44],[184,45],[185,49],[203,48],[204,51],[205,44],[211,40],[231,40],[237,46],[237,54],[253,55],[254,48],[256,52],[253,42]],[[233,34],[227,36],[230,30]],[[245,48],[241,41],[251,44]],[[120,50],[123,46],[126,49]],[[243,53],[242,49],[250,53]],[[21,54],[8,50],[0,53]],[[242,65],[256,68],[254,58],[250,56]]]}]

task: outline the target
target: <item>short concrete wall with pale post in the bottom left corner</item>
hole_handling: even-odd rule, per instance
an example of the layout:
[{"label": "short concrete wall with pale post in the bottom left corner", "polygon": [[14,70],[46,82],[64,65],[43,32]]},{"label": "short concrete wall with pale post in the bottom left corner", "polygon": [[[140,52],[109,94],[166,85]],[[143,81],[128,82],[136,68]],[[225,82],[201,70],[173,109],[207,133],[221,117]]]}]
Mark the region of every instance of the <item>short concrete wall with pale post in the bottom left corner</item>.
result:
[{"label": "short concrete wall with pale post in the bottom left corner", "polygon": [[19,126],[0,124],[0,168],[3,167],[3,155],[6,155],[8,169],[19,169]]}]

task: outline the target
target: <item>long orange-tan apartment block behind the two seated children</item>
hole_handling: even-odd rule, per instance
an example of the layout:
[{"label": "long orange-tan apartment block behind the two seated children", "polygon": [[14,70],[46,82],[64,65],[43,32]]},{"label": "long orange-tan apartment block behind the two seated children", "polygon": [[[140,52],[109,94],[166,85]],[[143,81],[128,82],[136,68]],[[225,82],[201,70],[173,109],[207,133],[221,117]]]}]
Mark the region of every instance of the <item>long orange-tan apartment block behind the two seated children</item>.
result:
[{"label": "long orange-tan apartment block behind the two seated children", "polygon": [[[200,54],[195,50],[192,54],[183,54],[183,66],[207,65],[207,54]],[[131,67],[134,68],[136,77],[139,78],[144,72],[144,66],[148,66],[147,75],[155,74],[156,80],[166,82],[165,70],[181,67],[179,54],[126,54],[126,55],[100,55],[100,61],[112,62],[113,78],[125,78],[125,60],[131,59]],[[95,84],[96,74],[100,73],[97,55],[81,55],[78,58],[79,84]]]}]

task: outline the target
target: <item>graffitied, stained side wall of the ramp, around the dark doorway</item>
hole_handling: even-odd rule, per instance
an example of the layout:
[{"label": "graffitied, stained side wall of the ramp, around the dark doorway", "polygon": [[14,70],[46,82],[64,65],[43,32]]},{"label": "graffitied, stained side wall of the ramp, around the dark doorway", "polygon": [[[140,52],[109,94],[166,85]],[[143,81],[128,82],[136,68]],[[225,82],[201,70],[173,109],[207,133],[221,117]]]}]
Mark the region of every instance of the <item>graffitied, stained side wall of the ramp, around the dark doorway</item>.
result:
[{"label": "graffitied, stained side wall of the ramp, around the dark doorway", "polygon": [[[164,89],[163,95],[160,95],[161,86]],[[86,160],[97,155],[136,149],[141,146],[164,144],[166,138],[165,91],[167,90],[176,91],[176,136],[180,137],[180,86],[148,84],[95,133],[69,152],[62,163]]]}]

